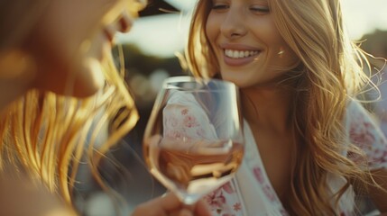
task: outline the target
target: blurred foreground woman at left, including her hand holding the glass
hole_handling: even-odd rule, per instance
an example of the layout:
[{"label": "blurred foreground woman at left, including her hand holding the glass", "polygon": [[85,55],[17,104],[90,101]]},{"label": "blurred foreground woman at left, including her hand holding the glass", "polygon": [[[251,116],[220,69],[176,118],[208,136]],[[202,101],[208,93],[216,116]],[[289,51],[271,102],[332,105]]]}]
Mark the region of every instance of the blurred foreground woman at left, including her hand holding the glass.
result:
[{"label": "blurred foreground woman at left, including her hand holding the glass", "polygon": [[[128,31],[144,4],[0,3],[1,215],[75,215],[72,185],[85,153],[97,181],[105,186],[97,163],[138,119],[123,75],[113,64],[111,46],[115,32]],[[106,125],[106,143],[94,145]],[[134,211],[183,214],[208,212],[203,203],[185,208],[171,194]]]}]

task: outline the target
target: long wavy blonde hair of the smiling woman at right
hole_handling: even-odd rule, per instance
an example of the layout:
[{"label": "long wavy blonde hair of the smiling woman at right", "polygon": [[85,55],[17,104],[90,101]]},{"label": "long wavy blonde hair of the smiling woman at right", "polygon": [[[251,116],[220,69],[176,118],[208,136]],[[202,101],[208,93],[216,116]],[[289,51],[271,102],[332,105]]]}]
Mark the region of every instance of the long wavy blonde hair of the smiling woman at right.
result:
[{"label": "long wavy blonde hair of the smiling woman at right", "polygon": [[[297,159],[292,161],[290,202],[285,207],[291,215],[336,215],[349,183],[332,202],[328,174],[364,184],[371,177],[340,154],[361,153],[355,145],[346,145],[343,124],[348,98],[361,92],[369,80],[363,70],[367,60],[344,29],[339,0],[268,2],[281,36],[300,59],[299,76],[290,82],[291,125],[298,148],[293,152]],[[194,76],[216,76],[219,71],[205,31],[211,7],[211,1],[199,0],[190,25],[186,54]]]}]

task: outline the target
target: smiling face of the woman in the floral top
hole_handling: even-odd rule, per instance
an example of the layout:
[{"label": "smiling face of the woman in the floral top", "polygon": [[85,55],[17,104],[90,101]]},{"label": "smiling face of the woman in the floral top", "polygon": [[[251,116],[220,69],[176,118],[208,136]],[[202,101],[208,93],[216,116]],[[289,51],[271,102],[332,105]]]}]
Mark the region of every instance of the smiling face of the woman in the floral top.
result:
[{"label": "smiling face of the woman in the floral top", "polygon": [[206,33],[222,78],[240,87],[275,82],[298,58],[281,37],[270,0],[212,0]]}]

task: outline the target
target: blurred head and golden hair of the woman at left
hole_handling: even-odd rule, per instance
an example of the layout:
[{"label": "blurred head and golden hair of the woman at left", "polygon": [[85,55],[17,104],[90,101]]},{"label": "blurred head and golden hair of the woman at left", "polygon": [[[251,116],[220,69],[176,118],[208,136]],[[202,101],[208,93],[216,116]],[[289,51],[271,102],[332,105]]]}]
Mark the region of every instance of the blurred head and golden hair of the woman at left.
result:
[{"label": "blurred head and golden hair of the woman at left", "polygon": [[[128,6],[130,11],[124,9]],[[70,202],[69,164],[80,157],[95,112],[104,109],[106,118],[112,118],[119,109],[127,110],[124,126],[114,129],[116,135],[107,145],[137,119],[133,100],[111,61],[110,39],[116,31],[129,29],[130,16],[135,15],[130,13],[141,7],[140,2],[121,0],[2,4],[2,170],[21,170],[22,175],[41,179]],[[20,15],[24,13],[31,16]],[[77,164],[72,168],[76,172]]]}]

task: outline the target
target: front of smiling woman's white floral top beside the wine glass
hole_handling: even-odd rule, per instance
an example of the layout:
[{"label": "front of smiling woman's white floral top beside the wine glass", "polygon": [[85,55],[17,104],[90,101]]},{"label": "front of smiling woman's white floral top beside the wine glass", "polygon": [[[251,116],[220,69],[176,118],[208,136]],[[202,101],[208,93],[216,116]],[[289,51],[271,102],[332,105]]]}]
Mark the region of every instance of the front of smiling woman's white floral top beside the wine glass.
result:
[{"label": "front of smiling woman's white floral top beside the wine glass", "polygon": [[272,184],[266,175],[253,133],[244,121],[244,161],[232,181],[224,184],[204,200],[214,216],[285,216]]}]

